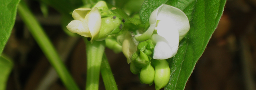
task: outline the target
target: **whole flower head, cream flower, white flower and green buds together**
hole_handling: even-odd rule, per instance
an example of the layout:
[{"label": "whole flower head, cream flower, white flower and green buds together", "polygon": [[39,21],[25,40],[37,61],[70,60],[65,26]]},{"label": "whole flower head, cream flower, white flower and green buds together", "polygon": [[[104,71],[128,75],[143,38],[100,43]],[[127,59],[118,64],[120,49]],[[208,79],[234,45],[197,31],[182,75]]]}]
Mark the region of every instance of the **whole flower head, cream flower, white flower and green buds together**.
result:
[{"label": "whole flower head, cream flower, white flower and green buds together", "polygon": [[131,63],[131,72],[138,74],[142,83],[154,82],[156,90],[166,86],[171,74],[166,59],[175,56],[179,42],[189,31],[187,16],[178,8],[163,4],[150,15],[148,30],[136,35],[129,29],[121,31],[125,20],[111,15],[106,2],[100,1],[92,9],[74,10],[74,20],[67,28],[91,38],[91,43],[105,40],[114,52],[122,51],[127,63]]}]

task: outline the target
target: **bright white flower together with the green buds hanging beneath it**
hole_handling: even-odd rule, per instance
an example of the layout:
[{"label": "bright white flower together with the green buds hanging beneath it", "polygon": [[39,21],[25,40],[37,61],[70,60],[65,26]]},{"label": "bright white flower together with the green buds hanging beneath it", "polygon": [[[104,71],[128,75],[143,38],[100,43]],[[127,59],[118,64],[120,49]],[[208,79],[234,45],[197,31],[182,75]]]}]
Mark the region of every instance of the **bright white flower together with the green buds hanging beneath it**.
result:
[{"label": "bright white flower together with the green buds hanging beneath it", "polygon": [[148,30],[135,36],[140,43],[132,55],[130,70],[139,74],[144,84],[151,85],[154,81],[156,90],[159,90],[167,85],[171,74],[166,59],[175,56],[179,42],[190,26],[187,16],[169,5],[161,5],[154,10],[149,22]]}]

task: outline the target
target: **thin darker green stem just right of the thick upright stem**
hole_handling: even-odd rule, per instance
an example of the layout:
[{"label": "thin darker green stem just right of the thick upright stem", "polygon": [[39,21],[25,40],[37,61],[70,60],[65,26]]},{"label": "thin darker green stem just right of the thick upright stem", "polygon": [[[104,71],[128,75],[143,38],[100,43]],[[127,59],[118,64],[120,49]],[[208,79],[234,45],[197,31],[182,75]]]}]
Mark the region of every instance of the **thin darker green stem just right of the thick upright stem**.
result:
[{"label": "thin darker green stem just right of the thick upright stem", "polygon": [[117,84],[108,64],[106,54],[103,55],[100,73],[106,90],[117,90]]}]

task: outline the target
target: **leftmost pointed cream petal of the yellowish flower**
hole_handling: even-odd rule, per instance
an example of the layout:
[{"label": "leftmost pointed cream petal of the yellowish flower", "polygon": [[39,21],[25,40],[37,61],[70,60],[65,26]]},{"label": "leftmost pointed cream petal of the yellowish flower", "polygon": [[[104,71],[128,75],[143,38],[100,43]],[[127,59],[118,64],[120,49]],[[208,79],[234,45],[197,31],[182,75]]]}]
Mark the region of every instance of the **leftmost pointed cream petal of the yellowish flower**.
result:
[{"label": "leftmost pointed cream petal of the yellowish flower", "polygon": [[82,22],[80,20],[71,21],[68,24],[67,29],[70,32],[80,34],[81,36],[92,37],[92,35],[89,32],[87,24],[85,24],[84,22]]}]

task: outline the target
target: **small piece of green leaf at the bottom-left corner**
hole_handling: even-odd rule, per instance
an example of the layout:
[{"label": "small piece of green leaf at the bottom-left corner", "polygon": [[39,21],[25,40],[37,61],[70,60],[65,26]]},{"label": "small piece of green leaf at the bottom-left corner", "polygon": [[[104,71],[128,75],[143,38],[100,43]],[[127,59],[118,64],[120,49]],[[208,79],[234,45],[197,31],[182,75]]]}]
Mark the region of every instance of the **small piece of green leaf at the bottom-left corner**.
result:
[{"label": "small piece of green leaf at the bottom-left corner", "polygon": [[8,58],[0,56],[0,90],[6,89],[6,82],[12,71],[12,66],[13,64]]}]

